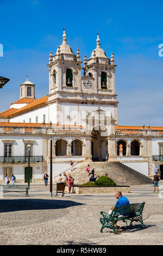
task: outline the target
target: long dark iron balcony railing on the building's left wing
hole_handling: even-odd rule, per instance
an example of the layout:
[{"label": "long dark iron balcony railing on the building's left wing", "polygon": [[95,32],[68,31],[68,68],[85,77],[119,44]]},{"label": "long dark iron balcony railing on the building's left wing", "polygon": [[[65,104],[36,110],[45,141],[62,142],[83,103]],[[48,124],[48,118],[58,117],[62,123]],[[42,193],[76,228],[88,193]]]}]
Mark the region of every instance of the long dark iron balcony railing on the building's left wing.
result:
[{"label": "long dark iron balcony railing on the building's left wing", "polygon": [[[42,163],[43,156],[30,156],[30,163]],[[28,156],[0,156],[0,163],[28,163]]]}]

